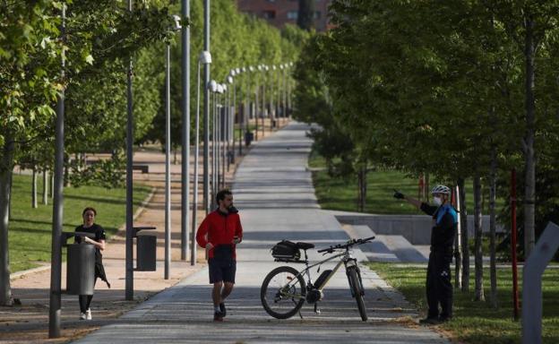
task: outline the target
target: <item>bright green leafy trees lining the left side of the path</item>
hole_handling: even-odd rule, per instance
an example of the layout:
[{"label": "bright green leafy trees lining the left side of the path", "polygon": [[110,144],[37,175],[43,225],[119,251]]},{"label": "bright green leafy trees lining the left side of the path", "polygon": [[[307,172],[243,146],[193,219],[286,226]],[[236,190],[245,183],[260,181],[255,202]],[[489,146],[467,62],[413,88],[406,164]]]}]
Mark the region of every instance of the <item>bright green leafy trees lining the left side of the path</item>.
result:
[{"label": "bright green leafy trees lining the left side of the path", "polygon": [[[65,89],[65,154],[108,151],[112,162],[75,177],[110,186],[122,176],[126,125],[126,69],[133,58],[135,142],[163,138],[164,47],[173,45],[173,142],[181,140],[180,38],[171,30],[179,2],[8,0],[0,3],[0,305],[12,302],[8,253],[11,178],[15,165],[51,169],[54,157],[56,95]],[[61,12],[66,5],[64,39]],[[191,2],[191,84],[202,51],[202,2]],[[305,33],[284,32],[236,11],[228,0],[211,2],[211,76],[224,81],[233,67],[292,61]],[[64,78],[61,56],[65,53]],[[242,96],[247,83],[237,85]],[[195,88],[192,88],[195,89]],[[195,93],[193,92],[193,95]],[[195,107],[195,102],[191,102]],[[194,108],[191,112],[194,113]],[[192,116],[193,117],[193,116]],[[194,118],[192,118],[194,120]],[[192,125],[193,127],[193,125]],[[191,137],[193,138],[193,134]],[[78,161],[82,159],[77,159]],[[110,165],[110,164],[114,164]],[[66,163],[71,168],[70,161]],[[114,173],[114,175],[110,175]],[[107,174],[110,175],[107,177]]]}]

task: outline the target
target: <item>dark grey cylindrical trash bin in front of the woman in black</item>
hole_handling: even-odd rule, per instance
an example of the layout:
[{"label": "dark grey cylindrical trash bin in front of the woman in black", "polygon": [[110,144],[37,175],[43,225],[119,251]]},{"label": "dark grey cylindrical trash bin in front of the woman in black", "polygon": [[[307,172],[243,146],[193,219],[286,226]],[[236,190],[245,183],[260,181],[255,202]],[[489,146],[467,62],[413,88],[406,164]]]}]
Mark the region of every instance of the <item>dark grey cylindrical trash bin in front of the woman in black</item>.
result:
[{"label": "dark grey cylindrical trash bin in front of the woman in black", "polygon": [[66,261],[66,294],[93,295],[95,287],[95,246],[68,245]]}]

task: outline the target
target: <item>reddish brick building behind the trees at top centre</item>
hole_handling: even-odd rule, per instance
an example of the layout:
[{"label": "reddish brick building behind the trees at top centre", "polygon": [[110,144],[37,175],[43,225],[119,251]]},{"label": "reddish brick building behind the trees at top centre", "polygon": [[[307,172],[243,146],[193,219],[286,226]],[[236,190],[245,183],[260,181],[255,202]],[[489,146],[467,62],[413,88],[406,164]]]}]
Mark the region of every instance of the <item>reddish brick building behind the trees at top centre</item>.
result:
[{"label": "reddish brick building behind the trees at top centre", "polygon": [[[331,0],[315,0],[315,30],[329,29],[328,6],[330,3]],[[287,23],[297,25],[298,0],[236,0],[236,4],[241,12],[262,18],[277,28],[283,28]]]}]

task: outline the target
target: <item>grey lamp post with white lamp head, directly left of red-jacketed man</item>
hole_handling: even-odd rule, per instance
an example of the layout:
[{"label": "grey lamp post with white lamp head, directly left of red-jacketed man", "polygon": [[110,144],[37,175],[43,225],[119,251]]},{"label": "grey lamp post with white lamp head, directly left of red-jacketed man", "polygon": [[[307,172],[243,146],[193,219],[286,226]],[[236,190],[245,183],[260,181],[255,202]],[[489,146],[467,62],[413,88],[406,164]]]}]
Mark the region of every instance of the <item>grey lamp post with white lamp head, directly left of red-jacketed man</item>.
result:
[{"label": "grey lamp post with white lamp head, directly left of red-jacketed man", "polygon": [[[211,64],[209,51],[202,51],[198,57],[198,74],[196,78],[196,128],[194,133],[194,190],[193,190],[193,214],[192,214],[192,236],[190,248],[190,264],[196,265],[196,211],[198,210],[198,158],[200,157],[200,64]],[[204,89],[208,85],[204,85]]]}]

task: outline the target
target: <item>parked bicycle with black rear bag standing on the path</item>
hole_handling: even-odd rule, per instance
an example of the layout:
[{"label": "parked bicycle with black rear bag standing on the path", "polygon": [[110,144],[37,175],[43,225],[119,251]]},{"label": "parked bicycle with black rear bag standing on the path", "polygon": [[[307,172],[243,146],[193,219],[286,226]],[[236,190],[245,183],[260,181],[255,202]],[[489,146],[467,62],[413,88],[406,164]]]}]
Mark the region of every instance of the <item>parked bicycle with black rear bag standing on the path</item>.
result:
[{"label": "parked bicycle with black rear bag standing on the path", "polygon": [[[337,254],[312,265],[309,265],[306,250],[314,248],[314,244],[301,242],[292,243],[285,240],[278,243],[278,245],[274,246],[272,249],[272,255],[276,262],[300,262],[304,263],[306,267],[302,271],[297,271],[291,266],[280,266],[272,270],[262,282],[262,288],[260,289],[262,306],[268,314],[277,319],[288,319],[297,313],[303,318],[300,310],[306,300],[307,303],[314,305],[314,312],[320,314],[318,302],[323,299],[323,289],[343,264],[346,268],[346,275],[348,276],[351,297],[355,297],[359,314],[361,315],[361,319],[365,322],[367,320],[365,301],[363,300],[365,288],[363,288],[361,271],[359,271],[359,267],[357,266],[357,259],[353,258],[351,255],[351,247],[368,243],[373,239],[374,236],[364,239],[352,239],[345,244],[331,245],[318,250],[319,253],[323,254]],[[277,249],[279,245],[282,244],[283,246]],[[276,250],[276,252],[274,252],[274,250]],[[299,259],[299,250],[305,251],[304,261]],[[323,271],[313,282],[311,279],[311,269],[315,266],[319,266],[318,271],[320,271],[320,266],[323,263],[336,259],[339,259],[340,262],[338,262],[332,270]]]}]

